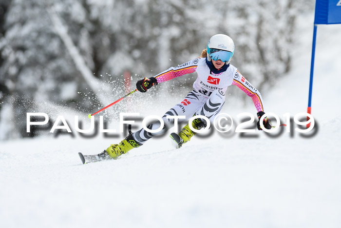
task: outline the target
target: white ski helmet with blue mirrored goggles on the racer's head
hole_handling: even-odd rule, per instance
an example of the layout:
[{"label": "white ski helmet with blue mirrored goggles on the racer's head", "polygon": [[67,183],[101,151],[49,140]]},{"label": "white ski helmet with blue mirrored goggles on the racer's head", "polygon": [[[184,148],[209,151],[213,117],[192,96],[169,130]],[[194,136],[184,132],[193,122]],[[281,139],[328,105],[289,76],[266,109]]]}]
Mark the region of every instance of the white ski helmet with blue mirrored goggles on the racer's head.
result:
[{"label": "white ski helmet with blue mirrored goggles on the racer's head", "polygon": [[234,53],[233,40],[224,34],[217,34],[208,40],[207,58],[211,60],[221,60],[228,64]]}]

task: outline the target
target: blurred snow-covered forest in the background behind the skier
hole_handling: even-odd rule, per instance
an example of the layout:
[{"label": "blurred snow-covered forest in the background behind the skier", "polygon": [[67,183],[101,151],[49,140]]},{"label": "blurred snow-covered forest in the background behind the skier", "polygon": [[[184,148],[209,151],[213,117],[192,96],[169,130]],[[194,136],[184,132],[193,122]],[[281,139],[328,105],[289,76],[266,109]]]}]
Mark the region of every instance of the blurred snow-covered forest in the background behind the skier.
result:
[{"label": "blurred snow-covered forest in the background behind the skier", "polygon": [[36,104],[96,110],[106,89],[123,91],[123,71],[133,83],[151,77],[198,57],[217,33],[234,40],[232,64],[262,89],[290,70],[296,15],[312,9],[305,0],[0,0],[0,101],[25,135],[22,115]]}]

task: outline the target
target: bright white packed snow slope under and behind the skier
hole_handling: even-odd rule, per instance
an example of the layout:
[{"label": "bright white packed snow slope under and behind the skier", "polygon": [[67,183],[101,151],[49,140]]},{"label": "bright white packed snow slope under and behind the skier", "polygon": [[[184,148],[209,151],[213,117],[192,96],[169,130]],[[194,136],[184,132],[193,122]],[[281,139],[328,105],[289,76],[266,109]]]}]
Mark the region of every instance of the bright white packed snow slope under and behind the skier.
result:
[{"label": "bright white packed snow slope under and behind the skier", "polygon": [[[290,75],[261,91],[265,111],[281,121],[284,113],[306,111],[312,29],[303,27],[297,37]],[[99,153],[124,136],[1,142],[0,226],[340,227],[340,38],[340,25],[319,26],[314,134],[298,133],[294,123],[276,137],[214,131],[178,150],[166,135],[120,159],[87,165],[78,152]],[[179,99],[159,101],[145,114],[162,115]],[[233,99],[223,112],[236,120],[241,112],[255,114],[251,101],[242,106]]]}]

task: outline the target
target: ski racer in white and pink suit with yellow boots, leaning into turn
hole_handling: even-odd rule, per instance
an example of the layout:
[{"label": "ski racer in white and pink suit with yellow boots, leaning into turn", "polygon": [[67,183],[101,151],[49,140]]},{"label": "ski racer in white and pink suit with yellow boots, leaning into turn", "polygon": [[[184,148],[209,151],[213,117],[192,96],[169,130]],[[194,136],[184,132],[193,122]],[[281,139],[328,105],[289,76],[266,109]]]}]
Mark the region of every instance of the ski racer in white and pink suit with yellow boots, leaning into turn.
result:
[{"label": "ski racer in white and pink suit with yellow boots, leaning into turn", "polygon": [[[98,158],[110,159],[118,157],[134,147],[143,145],[147,140],[156,134],[164,132],[167,127],[174,124],[174,119],[168,119],[167,116],[186,116],[186,120],[196,115],[206,116],[210,122],[222,109],[225,103],[225,91],[231,84],[242,89],[252,101],[257,109],[257,116],[260,119],[263,116],[263,101],[260,92],[253,87],[237,70],[236,67],[229,62],[234,53],[234,42],[230,37],[223,34],[212,36],[207,44],[207,49],[202,51],[200,58],[191,60],[176,67],[170,67],[168,70],[152,77],[144,78],[136,83],[137,89],[145,93],[153,85],[169,81],[173,78],[196,72],[198,77],[193,83],[193,90],[185,97],[183,101],[176,104],[162,117],[165,126],[157,133],[150,133],[142,128],[139,131],[129,134],[127,138],[122,140],[119,144],[112,144],[102,153],[98,154]],[[260,120],[258,120],[257,127],[260,127]],[[205,120],[200,118],[195,119],[190,123],[194,129],[200,129],[207,124]],[[265,128],[270,129],[271,124],[265,118],[263,122]],[[167,126],[167,127],[166,127]],[[158,129],[160,123],[156,122],[147,126],[149,129]],[[179,134],[172,133],[171,136],[177,142],[178,147],[187,143],[195,134],[187,124]],[[177,138],[175,138],[177,136]]]}]

